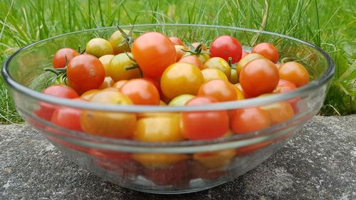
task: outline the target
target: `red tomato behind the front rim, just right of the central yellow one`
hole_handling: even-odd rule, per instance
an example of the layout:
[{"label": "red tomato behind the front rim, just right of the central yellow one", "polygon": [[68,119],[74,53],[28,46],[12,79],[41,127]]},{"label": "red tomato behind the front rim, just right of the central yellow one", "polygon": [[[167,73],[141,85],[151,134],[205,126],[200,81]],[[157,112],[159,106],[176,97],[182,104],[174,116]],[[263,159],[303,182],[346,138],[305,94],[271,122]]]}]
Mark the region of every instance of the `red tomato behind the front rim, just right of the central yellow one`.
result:
[{"label": "red tomato behind the front rim, just right of the central yellow one", "polygon": [[[186,105],[204,105],[218,102],[211,97],[196,97]],[[229,130],[229,116],[226,111],[199,111],[182,113],[182,130],[189,140],[207,140],[222,137]]]}]

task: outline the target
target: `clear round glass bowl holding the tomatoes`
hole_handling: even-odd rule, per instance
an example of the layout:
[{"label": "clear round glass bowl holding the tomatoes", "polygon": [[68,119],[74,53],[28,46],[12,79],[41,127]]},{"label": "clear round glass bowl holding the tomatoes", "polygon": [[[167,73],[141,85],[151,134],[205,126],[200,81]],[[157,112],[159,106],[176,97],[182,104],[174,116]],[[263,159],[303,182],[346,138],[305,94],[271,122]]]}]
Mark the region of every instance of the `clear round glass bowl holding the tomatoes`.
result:
[{"label": "clear round glass bowl holding the tomatoes", "polygon": [[[121,28],[130,29],[131,26]],[[78,102],[40,92],[51,78],[51,74],[45,72],[44,68],[52,67],[53,54],[58,49],[84,47],[94,37],[108,38],[117,31],[115,27],[67,33],[38,41],[21,48],[6,60],[1,72],[24,120],[80,167],[115,184],[138,191],[160,194],[200,191],[223,184],[253,169],[283,147],[298,127],[318,113],[334,73],[333,61],[323,50],[305,41],[276,33],[193,24],[142,24],[135,25],[134,30],[136,35],[159,31],[167,36],[179,36],[183,41],[203,39],[207,44],[216,36],[230,35],[238,38],[246,51],[256,43],[273,43],[278,49],[280,60],[298,60],[303,63],[311,80],[308,85],[288,93],[186,107]],[[105,115],[126,113],[142,117],[167,115],[167,112],[179,115],[193,111],[273,107],[286,102],[293,105],[293,117],[276,122],[271,127],[245,134],[230,132],[226,134],[230,136],[214,140],[182,142],[138,142],[98,137],[58,127],[35,114],[43,103]],[[283,110],[280,111],[282,114],[275,112],[274,117],[283,115]]]}]

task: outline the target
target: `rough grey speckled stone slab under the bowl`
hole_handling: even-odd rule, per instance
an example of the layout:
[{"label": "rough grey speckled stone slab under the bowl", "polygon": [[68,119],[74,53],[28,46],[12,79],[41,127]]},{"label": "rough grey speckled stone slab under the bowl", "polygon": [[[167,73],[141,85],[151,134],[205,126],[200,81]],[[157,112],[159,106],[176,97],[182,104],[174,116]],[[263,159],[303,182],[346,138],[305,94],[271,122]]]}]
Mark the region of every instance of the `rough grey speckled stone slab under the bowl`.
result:
[{"label": "rough grey speckled stone slab under the bowl", "polygon": [[28,125],[0,125],[0,199],[356,199],[356,115],[316,116],[256,169],[180,195],[111,184],[78,168]]}]

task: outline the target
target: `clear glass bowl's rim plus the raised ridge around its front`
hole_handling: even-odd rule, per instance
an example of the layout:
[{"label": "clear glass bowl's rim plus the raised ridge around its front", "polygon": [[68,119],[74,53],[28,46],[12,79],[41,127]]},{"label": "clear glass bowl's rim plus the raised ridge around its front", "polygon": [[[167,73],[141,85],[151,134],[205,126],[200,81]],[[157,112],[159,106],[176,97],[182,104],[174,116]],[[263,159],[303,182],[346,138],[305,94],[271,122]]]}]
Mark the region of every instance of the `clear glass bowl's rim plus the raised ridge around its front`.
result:
[{"label": "clear glass bowl's rim plus the raised ridge around its front", "polygon": [[[271,33],[267,31],[259,31],[248,28],[238,28],[231,26],[212,26],[212,25],[199,25],[199,24],[179,24],[179,23],[161,23],[161,24],[139,24],[135,25],[135,27],[150,27],[150,26],[192,26],[192,27],[204,27],[204,28],[229,28],[231,30],[236,31],[248,31],[253,33],[263,33],[271,36],[278,36],[286,39],[290,39],[293,41],[297,41],[299,43],[303,43],[307,46],[315,48],[316,51],[319,51],[327,60],[328,68],[320,76],[320,78],[313,80],[313,82],[305,85],[297,90],[293,90],[288,93],[270,95],[264,98],[253,98],[249,100],[240,100],[236,102],[219,102],[210,105],[194,105],[194,106],[177,106],[177,107],[163,107],[163,106],[144,106],[144,105],[109,105],[103,103],[96,102],[77,102],[73,100],[67,100],[63,98],[56,98],[51,95],[45,95],[36,90],[31,90],[26,86],[17,83],[11,75],[9,74],[9,65],[11,64],[11,60],[15,58],[17,54],[21,51],[25,51],[27,48],[31,48],[38,43],[43,41],[49,41],[53,38],[68,36],[75,33],[83,33],[90,31],[100,31],[100,30],[115,30],[117,27],[105,27],[105,28],[93,28],[83,31],[75,31],[71,33],[62,34],[59,36],[54,36],[51,38],[46,38],[44,40],[38,41],[36,43],[32,43],[29,46],[23,47],[16,51],[13,55],[11,55],[4,63],[1,73],[7,85],[10,86],[11,89],[16,90],[17,92],[27,95],[31,98],[34,98],[41,102],[50,102],[55,105],[69,106],[69,107],[77,107],[80,109],[87,110],[100,110],[100,111],[110,111],[110,112],[192,112],[192,111],[206,111],[206,110],[229,110],[236,109],[242,107],[253,107],[259,105],[266,105],[268,103],[279,102],[282,100],[288,100],[290,98],[300,97],[300,96],[308,96],[313,90],[316,90],[333,78],[333,74],[335,72],[333,60],[330,58],[328,53],[325,53],[322,49],[317,46],[313,46],[312,44],[299,40],[297,38],[293,38],[290,36],[283,36],[278,33]],[[120,26],[120,28],[130,28],[132,25]],[[264,142],[267,140],[271,140],[273,138],[283,136],[284,133],[278,132],[281,127],[284,127],[288,124],[295,124],[295,120],[301,119],[308,115],[309,113],[300,113],[295,115],[292,119],[287,122],[283,122],[278,125],[274,125],[272,127],[268,127],[264,130],[258,132],[251,132],[246,135],[233,135],[231,137],[218,138],[214,140],[197,140],[197,141],[180,141],[180,142],[140,142],[135,140],[122,140],[122,139],[113,139],[108,137],[98,137],[93,135],[88,135],[84,132],[77,132],[72,130],[66,130],[62,127],[58,127],[56,125],[51,124],[51,122],[47,122],[46,120],[42,120],[33,113],[27,113],[27,115],[31,115],[37,121],[41,122],[43,125],[47,125],[48,127],[54,127],[57,130],[63,130],[68,133],[69,136],[57,135],[53,132],[48,132],[51,136],[57,137],[66,142],[70,142],[72,144],[78,144],[83,147],[91,147],[91,148],[99,148],[99,149],[107,149],[111,151],[119,151],[119,152],[150,152],[150,153],[193,153],[193,152],[206,152],[206,151],[217,151],[221,149],[228,148],[236,148],[236,147],[244,147],[246,145],[257,144],[259,142]],[[295,126],[295,125],[293,125]],[[284,132],[287,132],[292,128],[287,128]],[[74,137],[73,137],[74,136]]]}]

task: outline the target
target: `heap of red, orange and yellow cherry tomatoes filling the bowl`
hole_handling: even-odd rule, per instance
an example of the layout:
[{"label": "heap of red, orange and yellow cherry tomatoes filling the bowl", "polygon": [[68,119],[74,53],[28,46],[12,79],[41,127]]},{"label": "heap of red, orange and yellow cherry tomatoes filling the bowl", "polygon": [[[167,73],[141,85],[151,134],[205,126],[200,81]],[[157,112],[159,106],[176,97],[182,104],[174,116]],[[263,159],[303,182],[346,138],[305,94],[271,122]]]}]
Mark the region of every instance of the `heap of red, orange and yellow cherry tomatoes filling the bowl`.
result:
[{"label": "heap of red, orange and yellow cherry tomatoes filling the bowl", "polygon": [[[53,56],[56,81],[43,93],[116,105],[190,106],[260,98],[308,84],[297,62],[278,63],[271,43],[243,51],[232,36],[209,46],[158,32],[116,31],[93,38],[85,52],[61,48]],[[298,99],[262,107],[182,113],[78,110],[40,102],[36,115],[70,130],[144,142],[208,140],[262,130],[296,112]]]}]

